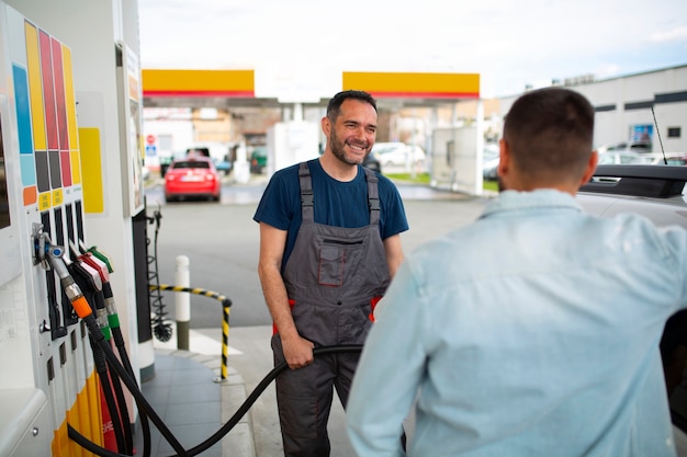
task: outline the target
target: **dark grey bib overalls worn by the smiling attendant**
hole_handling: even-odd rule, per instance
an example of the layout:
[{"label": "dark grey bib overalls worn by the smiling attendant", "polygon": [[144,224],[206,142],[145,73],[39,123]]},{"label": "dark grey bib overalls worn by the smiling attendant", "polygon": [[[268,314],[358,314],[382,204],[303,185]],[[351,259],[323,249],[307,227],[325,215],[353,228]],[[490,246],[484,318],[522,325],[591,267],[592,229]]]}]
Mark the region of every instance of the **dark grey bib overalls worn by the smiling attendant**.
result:
[{"label": "dark grey bib overalls worn by the smiling attendant", "polygon": [[[317,196],[313,195],[311,174],[305,163],[299,169],[303,222],[283,278],[299,333],[316,347],[362,344],[372,325],[371,301],[384,294],[390,282],[379,227],[378,178],[364,171],[370,225],[342,228],[315,222]],[[284,361],[279,333],[272,338],[272,349],[278,365]],[[318,356],[308,366],[278,376],[285,456],[329,456],[327,421],[333,387],[346,407],[358,358],[359,354]]]}]

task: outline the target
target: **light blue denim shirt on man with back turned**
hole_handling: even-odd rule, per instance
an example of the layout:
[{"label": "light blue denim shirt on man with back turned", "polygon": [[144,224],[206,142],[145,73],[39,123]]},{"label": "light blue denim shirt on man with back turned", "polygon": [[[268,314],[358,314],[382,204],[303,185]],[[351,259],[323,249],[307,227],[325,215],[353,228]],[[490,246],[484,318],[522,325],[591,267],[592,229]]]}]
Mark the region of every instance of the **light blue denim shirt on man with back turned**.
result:
[{"label": "light blue denim shirt on man with back turned", "polygon": [[504,192],[406,256],[349,402],[360,457],[674,456],[658,341],[687,305],[687,231]]}]

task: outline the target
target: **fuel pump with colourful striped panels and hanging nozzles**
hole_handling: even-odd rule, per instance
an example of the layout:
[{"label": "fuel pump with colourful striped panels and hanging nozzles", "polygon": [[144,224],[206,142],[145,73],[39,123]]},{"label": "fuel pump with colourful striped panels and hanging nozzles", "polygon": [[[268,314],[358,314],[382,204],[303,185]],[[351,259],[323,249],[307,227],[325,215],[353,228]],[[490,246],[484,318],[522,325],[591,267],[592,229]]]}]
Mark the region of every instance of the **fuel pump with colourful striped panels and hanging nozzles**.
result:
[{"label": "fuel pump with colourful striped panels and hanging nozzles", "polygon": [[[81,107],[79,123],[88,123],[86,126],[99,123],[97,133],[109,134],[109,145],[119,147],[117,107],[93,108],[91,103],[93,96],[108,100],[108,90],[116,101],[114,58],[109,56],[112,64],[108,67],[97,61],[98,56],[106,53],[85,49],[86,46],[113,49],[117,38],[126,42],[122,36],[102,33],[117,21],[131,21],[129,16],[122,19],[125,15],[115,18],[115,14],[112,4],[105,3],[94,4],[86,12],[82,4],[74,0],[59,4],[42,0],[0,0],[2,456],[82,456],[82,448],[68,437],[68,424],[78,427],[99,446],[132,450],[127,432],[135,416],[129,419],[126,411],[132,398],[124,398],[119,378],[115,380],[110,374],[103,376],[101,359],[106,367],[106,357],[93,356],[91,349],[99,345],[95,336],[87,331],[87,320],[79,316],[92,306],[93,320],[95,315],[101,320],[97,325],[99,331],[109,332],[104,323],[111,320],[112,313],[108,312],[106,295],[113,297],[114,287],[103,281],[103,270],[89,262],[90,256],[95,258],[94,252],[89,259],[79,260],[80,255],[70,255],[60,248],[86,242],[89,232],[85,218],[87,202],[97,206],[104,199],[101,197],[99,202],[94,194],[98,179],[103,176],[102,169],[92,168],[85,159],[109,156],[101,153],[100,144],[89,142],[90,137],[82,135],[93,130],[77,125],[77,99]],[[67,43],[77,44],[80,50],[72,56]],[[79,64],[74,65],[77,60]],[[75,68],[89,75],[81,78],[86,83],[80,95],[75,90]],[[92,91],[83,88],[90,80],[97,81]],[[114,123],[108,121],[111,113],[114,113]],[[120,174],[115,167],[109,170],[114,175]],[[109,184],[113,199],[121,201],[122,192],[114,185],[116,183]],[[116,215],[110,207],[102,206]],[[112,221],[106,224],[122,232],[126,218],[121,219],[119,227]],[[91,237],[98,235],[92,228],[90,232]],[[125,252],[119,247],[111,249]],[[50,256],[59,258],[60,262],[52,261]],[[128,302],[133,300],[121,289],[127,288],[131,281],[126,276],[116,286]],[[98,336],[101,338],[105,341],[110,334]],[[111,341],[105,343],[112,344]],[[101,381],[111,381],[111,386],[103,389]],[[119,445],[117,439],[113,439],[114,444],[105,442],[109,430],[114,429],[101,416],[105,410],[101,399],[105,398],[106,390],[114,400],[108,410],[114,411],[113,415],[122,423]]]}]

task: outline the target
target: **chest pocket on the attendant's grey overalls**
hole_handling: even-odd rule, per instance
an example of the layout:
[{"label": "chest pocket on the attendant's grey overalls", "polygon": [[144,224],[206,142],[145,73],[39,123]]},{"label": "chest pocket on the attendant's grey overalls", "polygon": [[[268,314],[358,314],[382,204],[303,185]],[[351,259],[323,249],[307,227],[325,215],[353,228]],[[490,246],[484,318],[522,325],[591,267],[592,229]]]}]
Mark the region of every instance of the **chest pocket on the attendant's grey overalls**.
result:
[{"label": "chest pocket on the attendant's grey overalls", "polygon": [[340,286],[356,273],[363,251],[363,240],[325,239],[319,248],[318,282],[324,286]]}]

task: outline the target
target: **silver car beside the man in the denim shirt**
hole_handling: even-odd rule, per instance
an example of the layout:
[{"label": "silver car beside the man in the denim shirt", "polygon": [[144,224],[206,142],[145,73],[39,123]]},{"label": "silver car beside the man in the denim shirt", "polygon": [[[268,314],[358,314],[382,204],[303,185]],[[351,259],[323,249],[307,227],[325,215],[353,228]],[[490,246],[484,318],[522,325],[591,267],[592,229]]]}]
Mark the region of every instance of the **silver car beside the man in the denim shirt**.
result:
[{"label": "silver car beside the man in the denim shirt", "polygon": [[[678,225],[687,228],[687,167],[682,165],[599,165],[594,178],[577,194],[577,201],[590,214],[612,217],[621,213],[637,213],[656,226]],[[679,311],[666,324],[668,332],[684,334]],[[684,322],[684,321],[683,321]],[[673,327],[678,325],[678,327]],[[665,336],[665,333],[664,333]],[[662,340],[663,343],[664,340]],[[679,345],[676,346],[679,350]],[[661,346],[663,352],[666,347]],[[677,353],[677,351],[676,351]],[[687,455],[687,369],[685,355],[662,354],[663,375],[674,425],[678,456]],[[601,355],[601,353],[599,353]]]}]

